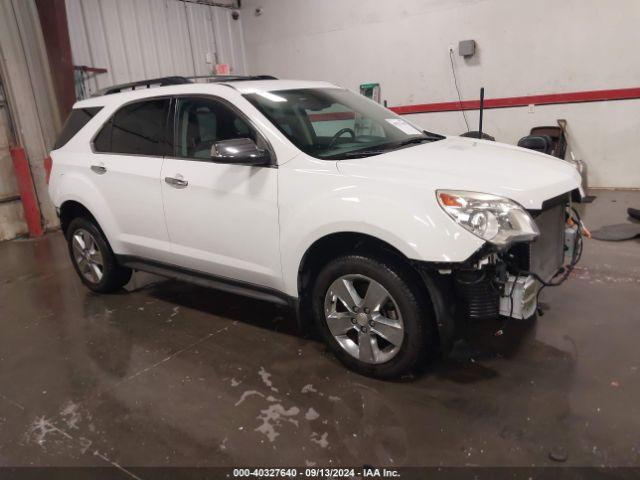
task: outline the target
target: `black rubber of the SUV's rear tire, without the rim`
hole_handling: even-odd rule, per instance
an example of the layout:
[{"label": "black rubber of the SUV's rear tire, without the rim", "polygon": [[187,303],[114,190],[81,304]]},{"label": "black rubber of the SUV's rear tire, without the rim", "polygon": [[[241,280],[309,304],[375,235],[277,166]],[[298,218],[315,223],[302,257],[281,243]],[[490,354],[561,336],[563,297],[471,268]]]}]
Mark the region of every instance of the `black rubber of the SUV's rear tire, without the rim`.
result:
[{"label": "black rubber of the SUV's rear tire, without the rim", "polygon": [[[95,239],[97,250],[99,250],[102,255],[102,278],[99,281],[92,281],[83,275],[76,256],[74,255],[73,237],[80,230],[88,232]],[[109,242],[91,219],[86,217],[73,219],[67,228],[66,238],[71,263],[80,280],[82,280],[82,283],[90,290],[98,293],[114,292],[122,288],[131,278],[132,270],[118,265],[115,255],[109,246]]]}]

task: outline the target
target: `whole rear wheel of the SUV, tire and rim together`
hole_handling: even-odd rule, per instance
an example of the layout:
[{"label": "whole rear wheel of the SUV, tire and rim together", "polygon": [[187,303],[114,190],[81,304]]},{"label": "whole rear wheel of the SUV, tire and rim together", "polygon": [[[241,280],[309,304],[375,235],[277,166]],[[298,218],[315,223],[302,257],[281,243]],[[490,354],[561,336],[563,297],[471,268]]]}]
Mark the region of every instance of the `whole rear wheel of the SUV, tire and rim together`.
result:
[{"label": "whole rear wheel of the SUV, tire and rim together", "polygon": [[66,237],[71,263],[90,290],[115,292],[131,278],[131,269],[118,265],[109,242],[92,220],[86,217],[73,219]]}]

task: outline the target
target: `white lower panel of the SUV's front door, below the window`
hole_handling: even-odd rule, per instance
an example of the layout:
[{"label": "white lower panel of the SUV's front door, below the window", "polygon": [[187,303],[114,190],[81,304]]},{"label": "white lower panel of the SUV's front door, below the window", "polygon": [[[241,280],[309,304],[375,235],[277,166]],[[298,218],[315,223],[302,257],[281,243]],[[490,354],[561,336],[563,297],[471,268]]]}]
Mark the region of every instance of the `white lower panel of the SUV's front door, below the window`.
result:
[{"label": "white lower panel of the SUV's front door, below the window", "polygon": [[166,158],[178,175],[187,188],[162,182],[169,263],[281,289],[278,170]]}]

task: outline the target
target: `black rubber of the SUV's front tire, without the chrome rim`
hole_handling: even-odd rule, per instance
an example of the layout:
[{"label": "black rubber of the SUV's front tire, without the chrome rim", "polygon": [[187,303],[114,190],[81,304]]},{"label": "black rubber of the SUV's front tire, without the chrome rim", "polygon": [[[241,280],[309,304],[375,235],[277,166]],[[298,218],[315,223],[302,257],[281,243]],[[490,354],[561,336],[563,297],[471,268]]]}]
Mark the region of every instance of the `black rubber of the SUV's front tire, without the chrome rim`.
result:
[{"label": "black rubber of the SUV's front tire, without the chrome rim", "polygon": [[[395,300],[402,315],[404,336],[400,350],[384,363],[366,363],[344,350],[334,338],[325,318],[325,296],[331,284],[343,275],[364,275],[382,285]],[[323,340],[348,368],[370,377],[391,379],[410,373],[435,356],[435,319],[416,279],[399,263],[365,255],[346,255],[329,262],[319,273],[312,290],[312,309]]]}]

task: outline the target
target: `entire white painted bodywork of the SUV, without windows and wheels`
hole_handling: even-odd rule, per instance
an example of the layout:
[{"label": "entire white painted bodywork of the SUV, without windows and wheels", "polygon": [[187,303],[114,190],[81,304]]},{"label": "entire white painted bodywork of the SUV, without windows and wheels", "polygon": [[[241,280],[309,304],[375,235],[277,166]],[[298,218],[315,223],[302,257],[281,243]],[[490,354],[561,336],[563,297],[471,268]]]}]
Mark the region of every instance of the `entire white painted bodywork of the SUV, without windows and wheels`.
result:
[{"label": "entire white painted bodywork of the SUV, without windows and wheels", "polygon": [[[50,195],[57,207],[75,200],[103,228],[115,253],[298,296],[308,248],[339,232],[376,237],[406,257],[463,262],[485,243],[439,207],[437,189],[510,198],[527,209],[580,187],[569,164],[483,140],[449,137],[362,159],[319,160],[301,152],[242,93],[340,88],[323,82],[265,80],[186,84],[91,98],[74,108],[104,107],[66,145],[52,152]],[[97,154],[91,139],[129,101],[214,95],[231,102],[268,140],[278,168]],[[105,175],[89,166],[103,162]],[[174,189],[165,176],[181,174]],[[164,206],[164,213],[163,213]]]}]

